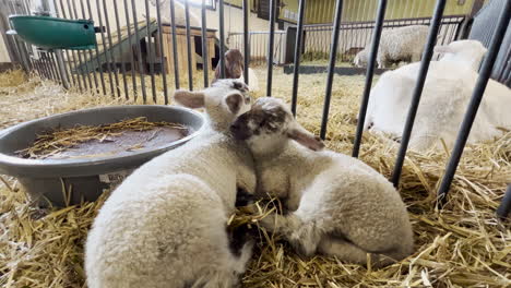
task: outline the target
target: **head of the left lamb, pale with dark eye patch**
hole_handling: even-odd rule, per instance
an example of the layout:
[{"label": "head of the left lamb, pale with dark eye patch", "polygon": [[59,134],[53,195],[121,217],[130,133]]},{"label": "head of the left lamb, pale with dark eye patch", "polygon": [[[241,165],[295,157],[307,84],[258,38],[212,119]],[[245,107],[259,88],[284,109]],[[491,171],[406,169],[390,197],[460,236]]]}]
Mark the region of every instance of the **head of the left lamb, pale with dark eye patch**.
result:
[{"label": "head of the left lamb, pale with dark eye patch", "polygon": [[204,108],[218,130],[228,129],[234,119],[250,110],[248,86],[239,80],[218,80],[203,91],[176,91],[174,99],[188,108]]}]

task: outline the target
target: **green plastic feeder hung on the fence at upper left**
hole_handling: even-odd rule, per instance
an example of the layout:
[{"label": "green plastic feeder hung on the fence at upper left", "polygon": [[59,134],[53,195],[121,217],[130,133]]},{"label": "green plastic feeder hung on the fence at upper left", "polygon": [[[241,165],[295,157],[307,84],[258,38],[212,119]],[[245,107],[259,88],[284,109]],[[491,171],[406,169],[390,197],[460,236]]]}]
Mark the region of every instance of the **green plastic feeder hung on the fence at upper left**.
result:
[{"label": "green plastic feeder hung on the fence at upper left", "polygon": [[49,16],[9,16],[13,31],[24,41],[43,49],[94,49],[96,31],[92,20],[67,20]]}]

